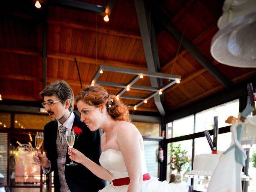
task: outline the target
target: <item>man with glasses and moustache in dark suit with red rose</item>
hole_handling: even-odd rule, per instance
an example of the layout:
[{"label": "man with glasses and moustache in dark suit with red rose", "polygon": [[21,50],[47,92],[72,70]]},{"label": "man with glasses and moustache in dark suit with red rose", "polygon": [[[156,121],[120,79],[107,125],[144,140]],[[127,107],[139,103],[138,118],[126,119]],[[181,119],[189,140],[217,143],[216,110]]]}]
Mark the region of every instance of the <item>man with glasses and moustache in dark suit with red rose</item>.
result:
[{"label": "man with glasses and moustache in dark suit with red rose", "polygon": [[40,162],[44,174],[54,171],[54,191],[98,192],[106,185],[104,180],[96,177],[82,164],[66,166],[70,159],[64,134],[66,129],[74,129],[74,148],[99,164],[101,132],[91,132],[86,124],[80,121],[80,116],[73,112],[74,94],[65,81],[49,84],[40,95],[44,100],[42,105],[52,121],[44,126],[46,156],[35,152],[34,160]]}]

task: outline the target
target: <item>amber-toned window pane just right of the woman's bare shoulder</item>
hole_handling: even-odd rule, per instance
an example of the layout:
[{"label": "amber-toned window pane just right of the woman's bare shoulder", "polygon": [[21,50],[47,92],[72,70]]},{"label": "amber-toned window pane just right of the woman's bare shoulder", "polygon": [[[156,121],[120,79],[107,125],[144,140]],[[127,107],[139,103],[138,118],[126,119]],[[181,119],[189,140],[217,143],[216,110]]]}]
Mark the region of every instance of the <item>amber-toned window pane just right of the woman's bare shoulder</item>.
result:
[{"label": "amber-toned window pane just right of the woman's bare shoulder", "polygon": [[159,136],[160,124],[158,123],[144,123],[132,122],[143,136]]}]

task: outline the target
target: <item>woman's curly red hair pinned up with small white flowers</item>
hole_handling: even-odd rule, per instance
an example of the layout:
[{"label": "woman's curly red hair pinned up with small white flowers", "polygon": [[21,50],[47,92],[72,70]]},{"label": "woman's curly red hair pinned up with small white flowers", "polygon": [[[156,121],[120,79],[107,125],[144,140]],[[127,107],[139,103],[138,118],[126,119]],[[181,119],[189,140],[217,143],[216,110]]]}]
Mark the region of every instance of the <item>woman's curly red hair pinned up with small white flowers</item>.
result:
[{"label": "woman's curly red hair pinned up with small white flowers", "polygon": [[76,103],[80,100],[94,107],[105,105],[108,113],[115,120],[131,121],[127,106],[99,85],[89,85],[83,88],[76,96]]}]

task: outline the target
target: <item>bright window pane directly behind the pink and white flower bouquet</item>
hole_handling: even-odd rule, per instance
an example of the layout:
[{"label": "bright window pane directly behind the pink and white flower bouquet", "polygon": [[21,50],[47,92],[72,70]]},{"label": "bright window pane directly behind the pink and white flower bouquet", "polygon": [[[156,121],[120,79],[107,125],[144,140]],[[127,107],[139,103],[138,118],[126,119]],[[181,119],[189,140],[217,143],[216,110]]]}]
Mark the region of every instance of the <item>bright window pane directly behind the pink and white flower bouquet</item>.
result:
[{"label": "bright window pane directly behind the pink and white flower bouquet", "polygon": [[[179,142],[173,142],[173,143],[169,143],[168,144],[168,152],[167,152],[167,168],[166,168],[166,180],[168,182],[170,182],[170,174],[176,174],[176,170],[171,170],[170,169],[170,144],[172,144],[173,146],[178,146],[178,144],[181,145],[181,149],[182,150],[186,150],[188,153],[188,161],[189,164],[187,164],[187,166],[185,167],[185,169],[181,172],[182,174],[187,174],[190,172],[191,170],[191,162],[192,162],[192,139],[191,140],[185,140],[185,141],[179,141]],[[186,178],[183,177],[183,179],[186,181]]]}]

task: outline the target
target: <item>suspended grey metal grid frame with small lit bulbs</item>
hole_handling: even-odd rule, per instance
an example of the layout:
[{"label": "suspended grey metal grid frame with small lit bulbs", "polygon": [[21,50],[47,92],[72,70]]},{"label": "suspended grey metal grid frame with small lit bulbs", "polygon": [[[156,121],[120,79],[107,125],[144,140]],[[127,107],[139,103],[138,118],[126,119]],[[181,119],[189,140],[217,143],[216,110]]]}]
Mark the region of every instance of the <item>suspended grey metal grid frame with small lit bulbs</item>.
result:
[{"label": "suspended grey metal grid frame with small lit bulbs", "polygon": [[[107,82],[107,81],[97,81],[98,77],[100,76],[100,71],[111,71],[111,72],[118,72],[118,73],[125,73],[125,74],[133,74],[135,75],[128,84],[122,84],[122,83],[115,83],[115,82]],[[140,85],[134,85],[134,83],[140,79],[140,75],[148,76],[148,77],[156,77],[161,79],[168,79],[169,81],[165,83],[161,87],[150,87],[150,86],[140,86]],[[131,99],[131,100],[139,100],[138,103],[136,103],[134,106],[128,105],[128,107],[138,107],[141,104],[144,103],[145,100],[149,100],[152,97],[154,97],[156,94],[159,94],[159,92],[163,92],[166,88],[172,86],[177,82],[177,80],[180,80],[181,76],[179,75],[171,75],[166,73],[158,73],[158,72],[149,72],[149,71],[142,71],[142,70],[133,70],[133,69],[127,69],[127,68],[120,68],[120,67],[111,67],[111,66],[102,66],[100,65],[96,71],[96,74],[94,75],[91,84],[99,84],[102,86],[111,86],[111,87],[119,87],[122,88],[117,94],[116,97],[118,98],[124,98],[124,99]],[[152,93],[149,94],[146,97],[136,97],[136,96],[128,96],[124,95],[121,96],[124,92],[126,92],[127,87],[130,89],[137,89],[137,90],[146,90],[151,91]]]}]

